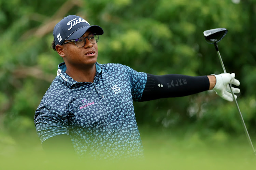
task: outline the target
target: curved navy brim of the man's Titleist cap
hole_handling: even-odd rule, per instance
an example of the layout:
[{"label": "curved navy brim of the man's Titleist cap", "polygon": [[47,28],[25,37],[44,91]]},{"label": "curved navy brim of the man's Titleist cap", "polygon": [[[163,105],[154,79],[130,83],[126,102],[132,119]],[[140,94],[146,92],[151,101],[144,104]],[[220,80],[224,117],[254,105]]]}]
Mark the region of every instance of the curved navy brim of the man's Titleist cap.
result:
[{"label": "curved navy brim of the man's Titleist cap", "polygon": [[88,27],[81,27],[80,29],[78,29],[75,32],[73,32],[66,40],[80,38],[88,30],[90,30],[91,32],[96,33],[98,35],[102,35],[103,34],[103,29],[100,26],[94,25],[94,26],[88,26]]}]

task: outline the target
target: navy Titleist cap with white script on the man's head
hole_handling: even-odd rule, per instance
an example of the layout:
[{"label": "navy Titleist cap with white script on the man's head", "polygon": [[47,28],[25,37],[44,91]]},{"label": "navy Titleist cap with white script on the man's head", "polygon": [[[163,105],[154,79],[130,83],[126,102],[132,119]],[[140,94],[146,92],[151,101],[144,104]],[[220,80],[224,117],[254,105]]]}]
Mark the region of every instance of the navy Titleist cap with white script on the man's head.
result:
[{"label": "navy Titleist cap with white script on the man's head", "polygon": [[86,20],[79,16],[69,15],[64,17],[53,29],[55,45],[61,45],[65,40],[80,38],[89,29],[98,35],[103,34],[103,30],[100,26],[90,26]]}]

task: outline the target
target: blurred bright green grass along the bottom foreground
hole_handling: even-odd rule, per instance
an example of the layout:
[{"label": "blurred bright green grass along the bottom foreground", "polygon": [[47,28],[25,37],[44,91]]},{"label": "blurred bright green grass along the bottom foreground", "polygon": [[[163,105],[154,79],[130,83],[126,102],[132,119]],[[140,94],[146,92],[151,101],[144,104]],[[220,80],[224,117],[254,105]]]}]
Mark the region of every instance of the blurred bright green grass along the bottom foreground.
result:
[{"label": "blurred bright green grass along the bottom foreground", "polygon": [[[143,160],[104,162],[46,155],[36,134],[24,136],[22,145],[1,134],[0,169],[255,169],[256,156],[245,135],[228,137],[222,132],[203,137],[199,133],[140,128]],[[5,140],[4,140],[5,139]]]}]

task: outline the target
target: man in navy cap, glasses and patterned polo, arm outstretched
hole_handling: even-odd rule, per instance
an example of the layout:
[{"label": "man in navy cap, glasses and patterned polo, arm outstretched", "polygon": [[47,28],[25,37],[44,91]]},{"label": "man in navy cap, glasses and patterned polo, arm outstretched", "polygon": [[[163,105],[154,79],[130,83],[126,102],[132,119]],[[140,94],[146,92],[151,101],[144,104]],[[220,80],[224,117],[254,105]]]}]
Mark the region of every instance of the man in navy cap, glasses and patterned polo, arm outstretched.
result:
[{"label": "man in navy cap, glasses and patterned polo, arm outstretched", "polygon": [[[48,151],[72,150],[80,156],[102,159],[141,157],[143,146],[133,100],[181,97],[214,89],[232,101],[227,85],[240,84],[234,73],[157,76],[121,64],[99,64],[97,42],[102,34],[101,27],[90,26],[75,15],[63,18],[54,28],[53,49],[64,62],[34,117],[42,146]],[[240,92],[238,88],[233,91]]]}]

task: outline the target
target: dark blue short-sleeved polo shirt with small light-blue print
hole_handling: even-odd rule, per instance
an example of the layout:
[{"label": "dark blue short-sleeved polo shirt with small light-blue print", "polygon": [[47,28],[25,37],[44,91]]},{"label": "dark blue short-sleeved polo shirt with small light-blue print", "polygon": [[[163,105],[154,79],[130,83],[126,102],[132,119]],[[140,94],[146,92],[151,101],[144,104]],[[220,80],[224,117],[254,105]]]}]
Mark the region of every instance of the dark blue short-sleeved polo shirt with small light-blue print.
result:
[{"label": "dark blue short-sleeved polo shirt with small light-blue print", "polygon": [[94,82],[76,82],[58,66],[57,76],[35,112],[40,140],[67,134],[85,157],[140,157],[143,146],[133,100],[139,101],[146,73],[121,64],[96,63]]}]

